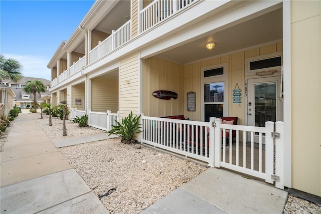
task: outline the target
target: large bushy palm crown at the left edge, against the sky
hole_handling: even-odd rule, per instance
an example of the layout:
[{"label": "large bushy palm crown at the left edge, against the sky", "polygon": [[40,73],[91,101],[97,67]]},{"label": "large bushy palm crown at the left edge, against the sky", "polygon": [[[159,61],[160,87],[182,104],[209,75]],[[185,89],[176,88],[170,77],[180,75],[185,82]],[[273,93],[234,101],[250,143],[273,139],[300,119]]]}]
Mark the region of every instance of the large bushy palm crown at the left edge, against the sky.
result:
[{"label": "large bushy palm crown at the left edge, against the sky", "polygon": [[5,79],[18,82],[23,77],[21,69],[22,65],[17,60],[0,55],[0,83]]}]

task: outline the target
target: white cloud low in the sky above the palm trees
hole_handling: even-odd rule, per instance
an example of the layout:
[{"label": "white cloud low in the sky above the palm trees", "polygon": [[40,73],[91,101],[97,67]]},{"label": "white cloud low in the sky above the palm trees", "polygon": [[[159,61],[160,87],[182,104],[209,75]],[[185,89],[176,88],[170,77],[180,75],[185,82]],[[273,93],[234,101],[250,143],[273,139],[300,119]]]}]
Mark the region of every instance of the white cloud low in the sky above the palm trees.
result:
[{"label": "white cloud low in the sky above the palm trees", "polygon": [[18,55],[18,54],[2,54],[6,59],[13,58],[22,66],[23,76],[45,78],[50,80],[50,69],[47,68],[49,58],[44,56]]}]

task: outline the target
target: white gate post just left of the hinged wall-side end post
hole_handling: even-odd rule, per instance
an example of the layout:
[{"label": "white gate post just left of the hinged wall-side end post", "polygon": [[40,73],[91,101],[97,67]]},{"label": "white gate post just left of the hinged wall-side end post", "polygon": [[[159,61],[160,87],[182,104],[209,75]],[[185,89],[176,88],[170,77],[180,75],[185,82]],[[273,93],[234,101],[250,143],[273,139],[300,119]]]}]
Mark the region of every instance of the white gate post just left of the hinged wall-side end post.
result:
[{"label": "white gate post just left of the hinged wall-side end post", "polygon": [[274,174],[274,122],[265,122],[265,182],[273,183]]}]

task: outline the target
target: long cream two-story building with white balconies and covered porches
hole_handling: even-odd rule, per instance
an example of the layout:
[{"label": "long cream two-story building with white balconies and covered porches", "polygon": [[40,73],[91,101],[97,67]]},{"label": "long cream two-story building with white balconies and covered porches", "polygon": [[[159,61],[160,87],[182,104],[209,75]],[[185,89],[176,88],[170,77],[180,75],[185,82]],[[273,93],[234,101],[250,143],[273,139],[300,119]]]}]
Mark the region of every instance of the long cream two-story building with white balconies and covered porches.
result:
[{"label": "long cream two-story building with white balconies and covered porches", "polygon": [[321,196],[320,20],[320,1],[96,1],[48,63],[51,102],[89,123],[108,110],[283,121],[280,179]]}]

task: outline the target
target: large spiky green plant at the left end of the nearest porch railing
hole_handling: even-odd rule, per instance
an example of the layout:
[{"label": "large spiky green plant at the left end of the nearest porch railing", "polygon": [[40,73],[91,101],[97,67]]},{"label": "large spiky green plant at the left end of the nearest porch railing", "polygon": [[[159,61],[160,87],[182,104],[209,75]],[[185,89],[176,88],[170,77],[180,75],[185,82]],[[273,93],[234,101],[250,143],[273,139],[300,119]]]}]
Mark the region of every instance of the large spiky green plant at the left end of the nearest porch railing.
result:
[{"label": "large spiky green plant at the left end of the nearest porch railing", "polygon": [[132,112],[128,117],[122,118],[121,122],[115,121],[117,125],[112,125],[113,129],[108,131],[109,135],[118,134],[121,137],[121,142],[132,143],[136,133],[141,132],[139,125],[140,115],[132,116]]}]

